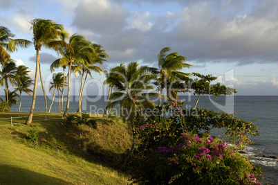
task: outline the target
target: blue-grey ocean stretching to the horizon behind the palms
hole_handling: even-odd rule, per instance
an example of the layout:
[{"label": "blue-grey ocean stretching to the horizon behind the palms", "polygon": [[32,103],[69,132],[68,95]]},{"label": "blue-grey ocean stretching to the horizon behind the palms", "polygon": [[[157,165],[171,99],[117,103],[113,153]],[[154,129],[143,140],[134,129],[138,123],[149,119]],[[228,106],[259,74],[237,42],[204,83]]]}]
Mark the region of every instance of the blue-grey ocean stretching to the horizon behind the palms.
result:
[{"label": "blue-grey ocean stretching to the horizon behind the palms", "polygon": [[[76,112],[78,108],[78,96],[71,96],[69,113]],[[187,107],[194,107],[197,96],[180,96],[185,100]],[[51,99],[52,100],[52,99]],[[48,98],[48,108],[51,103]],[[32,97],[22,96],[21,112],[29,112]],[[11,112],[17,112],[19,103],[11,107]],[[83,98],[82,112],[91,114],[103,114],[107,105],[106,96],[89,96]],[[64,109],[66,100],[64,99]],[[250,161],[261,166],[267,177],[263,184],[278,184],[278,96],[201,96],[198,108],[212,109],[216,112],[237,112],[235,117],[246,121],[253,121],[259,128],[259,136],[251,138],[254,144],[245,149]],[[51,112],[58,112],[59,104],[53,103]],[[63,110],[64,110],[63,109]],[[35,112],[44,112],[44,96],[37,96]],[[256,120],[257,121],[254,121]],[[214,132],[212,132],[213,134]],[[263,155],[265,157],[263,157]],[[272,157],[272,158],[271,158]]]}]

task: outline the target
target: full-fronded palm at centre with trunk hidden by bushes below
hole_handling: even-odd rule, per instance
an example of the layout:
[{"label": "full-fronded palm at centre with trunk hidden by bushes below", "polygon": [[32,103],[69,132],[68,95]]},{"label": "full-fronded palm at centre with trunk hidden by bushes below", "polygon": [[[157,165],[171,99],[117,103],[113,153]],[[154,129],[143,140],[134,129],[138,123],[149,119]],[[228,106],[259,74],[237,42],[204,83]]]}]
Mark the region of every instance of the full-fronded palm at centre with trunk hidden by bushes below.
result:
[{"label": "full-fronded palm at centre with trunk hidden by bushes below", "polygon": [[106,83],[113,85],[115,92],[110,96],[111,102],[106,108],[120,105],[122,111],[120,116],[129,118],[131,130],[133,121],[138,116],[140,109],[155,107],[156,104],[149,97],[162,96],[157,92],[151,92],[152,85],[149,85],[154,75],[154,69],[147,66],[139,67],[138,62],[130,62],[127,67],[120,64],[114,73],[106,78]]}]

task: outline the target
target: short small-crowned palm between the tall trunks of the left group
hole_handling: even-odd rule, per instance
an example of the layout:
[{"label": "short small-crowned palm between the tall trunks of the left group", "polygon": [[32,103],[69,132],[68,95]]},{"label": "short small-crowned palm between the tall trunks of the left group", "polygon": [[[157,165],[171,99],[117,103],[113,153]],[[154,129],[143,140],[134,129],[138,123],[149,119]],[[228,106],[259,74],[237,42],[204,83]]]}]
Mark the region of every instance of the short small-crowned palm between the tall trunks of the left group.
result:
[{"label": "short small-crowned palm between the tall trunks of the left group", "polygon": [[53,93],[53,99],[52,99],[52,102],[51,102],[50,107],[48,109],[48,112],[50,112],[50,109],[51,109],[51,107],[53,105],[56,89],[58,90],[59,112],[60,112],[61,105],[60,105],[60,94],[59,94],[59,91],[61,91],[61,87],[63,87],[63,84],[64,84],[64,75],[63,75],[63,73],[54,73],[53,76],[52,76],[52,82],[50,82],[51,86],[49,88],[49,91],[51,91],[51,89],[54,88],[54,93]]}]

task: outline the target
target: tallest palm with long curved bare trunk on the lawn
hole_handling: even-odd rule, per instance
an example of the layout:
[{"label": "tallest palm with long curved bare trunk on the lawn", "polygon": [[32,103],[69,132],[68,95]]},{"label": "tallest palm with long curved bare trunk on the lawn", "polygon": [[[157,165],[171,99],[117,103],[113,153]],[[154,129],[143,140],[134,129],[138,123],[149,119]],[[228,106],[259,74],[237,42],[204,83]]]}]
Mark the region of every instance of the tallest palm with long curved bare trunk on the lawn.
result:
[{"label": "tallest palm with long curved bare trunk on the lawn", "polygon": [[[30,114],[26,120],[26,125],[32,123],[33,113],[35,109],[35,100],[37,95],[37,77],[40,66],[39,51],[41,46],[45,46],[46,49],[55,49],[56,51],[61,48],[66,48],[68,45],[63,39],[68,37],[68,33],[64,30],[62,24],[56,24],[54,21],[47,19],[33,19],[30,22],[33,29],[33,44],[35,50],[37,51],[36,60],[36,70],[35,70],[35,80],[34,80],[34,90],[33,90],[33,100],[30,109]],[[42,81],[41,81],[42,84]],[[45,96],[46,100],[46,96]],[[47,107],[46,107],[47,110]]]}]

